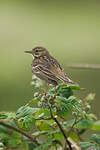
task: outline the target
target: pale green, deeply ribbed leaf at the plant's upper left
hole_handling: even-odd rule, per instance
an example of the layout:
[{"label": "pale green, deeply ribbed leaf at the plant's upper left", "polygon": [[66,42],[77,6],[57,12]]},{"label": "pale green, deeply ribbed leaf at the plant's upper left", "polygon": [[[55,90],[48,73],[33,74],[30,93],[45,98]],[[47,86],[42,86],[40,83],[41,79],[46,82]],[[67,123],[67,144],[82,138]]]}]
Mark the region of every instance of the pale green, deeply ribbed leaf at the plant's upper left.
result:
[{"label": "pale green, deeply ribbed leaf at the plant's upper left", "polygon": [[27,115],[33,115],[39,110],[40,110],[39,108],[32,108],[32,107],[29,107],[29,106],[22,106],[17,110],[16,118],[25,117]]}]

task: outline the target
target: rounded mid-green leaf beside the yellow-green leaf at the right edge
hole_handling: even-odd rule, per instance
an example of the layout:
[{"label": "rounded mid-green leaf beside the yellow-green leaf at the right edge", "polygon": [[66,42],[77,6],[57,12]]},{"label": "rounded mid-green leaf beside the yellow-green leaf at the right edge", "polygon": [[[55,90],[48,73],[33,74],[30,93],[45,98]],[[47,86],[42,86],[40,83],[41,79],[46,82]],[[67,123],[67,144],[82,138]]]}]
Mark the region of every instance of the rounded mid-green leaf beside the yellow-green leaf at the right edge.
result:
[{"label": "rounded mid-green leaf beside the yellow-green leaf at the right edge", "polygon": [[78,129],[89,129],[92,126],[93,126],[93,120],[83,119],[77,123],[76,128],[78,128]]}]

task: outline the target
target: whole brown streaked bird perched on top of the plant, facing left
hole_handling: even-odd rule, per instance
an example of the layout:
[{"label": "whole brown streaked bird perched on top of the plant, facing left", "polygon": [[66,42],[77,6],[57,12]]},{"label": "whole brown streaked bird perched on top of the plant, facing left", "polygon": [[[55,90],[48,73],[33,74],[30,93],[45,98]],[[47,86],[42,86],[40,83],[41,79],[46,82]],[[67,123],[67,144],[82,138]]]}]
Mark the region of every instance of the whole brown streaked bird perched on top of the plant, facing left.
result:
[{"label": "whole brown streaked bird perched on top of the plant, facing left", "polygon": [[75,83],[66,76],[64,69],[60,66],[58,61],[50,55],[46,48],[37,46],[30,51],[25,51],[25,53],[31,54],[34,58],[32,61],[32,73],[38,78],[54,86],[58,84],[58,80],[68,85],[75,85]]}]

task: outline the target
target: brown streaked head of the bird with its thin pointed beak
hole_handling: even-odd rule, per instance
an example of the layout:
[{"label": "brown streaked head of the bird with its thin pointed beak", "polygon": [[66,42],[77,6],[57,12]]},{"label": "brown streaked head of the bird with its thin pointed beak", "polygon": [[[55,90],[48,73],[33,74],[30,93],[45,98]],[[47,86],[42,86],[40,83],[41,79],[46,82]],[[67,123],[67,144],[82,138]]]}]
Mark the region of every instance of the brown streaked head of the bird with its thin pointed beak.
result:
[{"label": "brown streaked head of the bird with its thin pointed beak", "polygon": [[41,47],[41,46],[37,46],[37,47],[33,48],[32,50],[25,51],[25,53],[32,54],[32,56],[34,58],[39,58],[41,56],[47,55],[49,52],[47,51],[46,48]]}]

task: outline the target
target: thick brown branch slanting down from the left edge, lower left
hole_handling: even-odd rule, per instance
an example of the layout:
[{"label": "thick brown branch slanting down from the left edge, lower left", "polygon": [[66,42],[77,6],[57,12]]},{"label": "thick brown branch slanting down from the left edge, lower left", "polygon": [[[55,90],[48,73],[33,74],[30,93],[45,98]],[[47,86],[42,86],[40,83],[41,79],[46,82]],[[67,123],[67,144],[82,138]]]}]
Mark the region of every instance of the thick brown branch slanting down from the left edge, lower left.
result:
[{"label": "thick brown branch slanting down from the left edge, lower left", "polygon": [[14,131],[16,131],[16,132],[19,132],[20,134],[22,134],[22,135],[26,136],[27,138],[29,138],[29,139],[30,139],[32,142],[34,142],[36,145],[40,146],[40,143],[38,143],[38,141],[37,141],[33,136],[31,136],[29,133],[27,133],[27,132],[25,132],[25,131],[23,131],[23,130],[21,130],[21,129],[19,129],[19,128],[13,127],[13,126],[11,126],[11,125],[5,123],[5,122],[2,121],[2,120],[0,120],[0,125],[5,126],[5,127],[9,128],[9,129],[11,129],[11,130],[14,130]]}]

